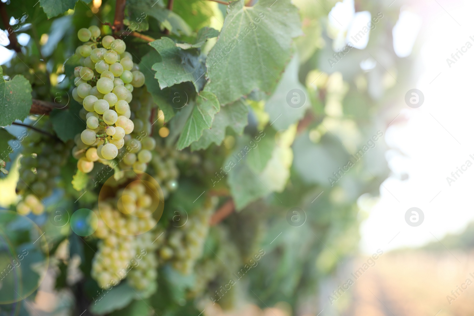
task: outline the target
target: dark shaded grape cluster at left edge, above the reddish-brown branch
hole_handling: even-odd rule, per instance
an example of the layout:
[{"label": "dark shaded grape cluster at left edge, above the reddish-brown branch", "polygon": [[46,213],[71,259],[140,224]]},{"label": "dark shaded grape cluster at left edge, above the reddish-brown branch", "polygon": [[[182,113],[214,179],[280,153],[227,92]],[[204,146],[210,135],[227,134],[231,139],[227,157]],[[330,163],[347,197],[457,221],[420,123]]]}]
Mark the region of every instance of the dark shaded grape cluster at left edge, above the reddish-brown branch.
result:
[{"label": "dark shaded grape cluster at left edge, above the reddish-brown branch", "polygon": [[31,95],[35,99],[48,99],[49,78],[46,63],[35,55],[17,54],[10,60],[10,66],[4,67],[4,75],[13,78],[17,74],[23,75],[31,84]]}]

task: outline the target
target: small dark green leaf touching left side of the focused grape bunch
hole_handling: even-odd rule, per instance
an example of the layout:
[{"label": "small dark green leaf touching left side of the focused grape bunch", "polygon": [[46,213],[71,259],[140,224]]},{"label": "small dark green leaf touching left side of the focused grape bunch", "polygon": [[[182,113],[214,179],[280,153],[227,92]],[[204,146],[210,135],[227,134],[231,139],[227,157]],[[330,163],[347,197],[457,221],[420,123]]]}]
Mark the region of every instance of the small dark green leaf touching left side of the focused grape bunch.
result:
[{"label": "small dark green leaf touching left side of the focused grape bunch", "polygon": [[73,108],[53,109],[49,115],[56,135],[63,142],[73,139],[76,134],[82,133],[86,124],[81,120]]}]

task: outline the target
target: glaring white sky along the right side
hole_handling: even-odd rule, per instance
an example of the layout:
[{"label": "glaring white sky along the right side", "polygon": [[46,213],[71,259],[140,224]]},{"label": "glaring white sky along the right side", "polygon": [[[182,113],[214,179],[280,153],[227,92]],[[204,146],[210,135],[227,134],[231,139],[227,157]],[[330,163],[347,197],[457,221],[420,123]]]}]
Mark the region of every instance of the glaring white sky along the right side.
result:
[{"label": "glaring white sky along the right side", "polygon": [[[415,44],[422,44],[421,52],[408,58],[416,58],[415,67],[421,69],[412,88],[421,90],[425,101],[419,108],[404,106],[400,116],[407,121],[392,124],[386,132],[385,140],[394,149],[387,153],[389,166],[395,174],[408,173],[409,179],[383,182],[381,199],[360,229],[366,253],[440,240],[474,220],[474,2],[423,1],[407,9],[423,19]],[[446,59],[468,41],[473,47],[463,48],[464,55],[458,54],[449,67]],[[404,95],[399,102],[404,104]],[[449,186],[446,178],[466,160],[473,165]],[[424,213],[420,226],[405,222],[405,212],[412,207]]]}]

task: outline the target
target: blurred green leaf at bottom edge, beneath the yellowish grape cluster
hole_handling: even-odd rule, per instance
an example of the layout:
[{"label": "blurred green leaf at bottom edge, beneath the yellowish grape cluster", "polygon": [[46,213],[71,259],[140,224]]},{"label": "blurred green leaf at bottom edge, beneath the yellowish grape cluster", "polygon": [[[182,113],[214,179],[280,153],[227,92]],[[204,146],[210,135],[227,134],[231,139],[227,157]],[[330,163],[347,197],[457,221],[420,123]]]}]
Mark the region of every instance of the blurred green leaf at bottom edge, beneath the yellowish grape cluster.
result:
[{"label": "blurred green leaf at bottom edge, beneath the yellowish grape cluster", "polygon": [[91,303],[90,310],[95,315],[104,315],[114,310],[126,307],[133,299],[139,297],[127,282],[122,282],[112,287],[102,297],[95,297]]}]

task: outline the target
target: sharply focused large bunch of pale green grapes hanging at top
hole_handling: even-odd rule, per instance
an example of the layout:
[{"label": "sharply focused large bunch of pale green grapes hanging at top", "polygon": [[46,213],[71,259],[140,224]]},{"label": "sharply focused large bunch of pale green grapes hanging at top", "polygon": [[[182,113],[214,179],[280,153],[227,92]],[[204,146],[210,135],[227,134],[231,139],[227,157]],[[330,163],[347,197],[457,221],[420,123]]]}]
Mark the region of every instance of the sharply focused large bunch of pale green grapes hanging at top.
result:
[{"label": "sharply focused large bunch of pale green grapes hanging at top", "polygon": [[99,43],[100,29],[96,26],[81,28],[77,35],[84,44],[76,49],[81,66],[74,69],[73,99],[82,103],[85,113],[87,128],[81,133],[81,141],[95,150],[87,154],[89,149],[82,148],[85,152],[76,152],[75,156],[80,156],[78,169],[87,173],[95,161],[117,157],[125,135],[134,130],[129,102],[134,87],[144,85],[145,76],[125,51],[123,40],[106,35]]}]

